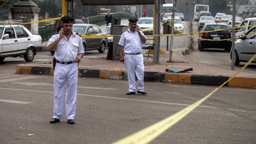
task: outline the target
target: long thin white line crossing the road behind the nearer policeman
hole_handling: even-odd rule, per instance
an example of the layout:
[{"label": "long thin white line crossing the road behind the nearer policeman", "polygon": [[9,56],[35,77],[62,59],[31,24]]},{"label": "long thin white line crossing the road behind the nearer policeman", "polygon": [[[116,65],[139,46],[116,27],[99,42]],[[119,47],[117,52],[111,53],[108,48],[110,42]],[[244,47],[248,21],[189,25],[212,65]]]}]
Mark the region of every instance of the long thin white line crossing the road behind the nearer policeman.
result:
[{"label": "long thin white line crossing the road behind the nearer policeman", "polygon": [[[54,93],[54,92],[48,92],[48,91],[36,91],[36,90],[23,90],[23,89],[10,89],[10,88],[0,88],[3,90],[15,90],[15,91],[28,91],[28,92],[46,92],[46,93]],[[116,98],[116,97],[107,97],[107,96],[99,96],[99,95],[90,95],[90,94],[77,94],[81,96],[89,96],[89,97],[98,97],[98,98],[107,98],[107,99],[116,99],[116,100],[132,100],[132,101],[143,101],[143,102],[149,102],[149,103],[158,103],[158,104],[168,104],[168,105],[178,105],[178,106],[190,106],[190,104],[180,104],[180,103],[169,103],[169,102],[161,102],[161,101],[151,101],[151,100],[138,100],[138,99],[127,99],[127,98]],[[204,108],[217,108],[217,107],[211,107],[211,106],[201,106],[198,107],[204,107]],[[225,108],[222,108],[225,109]],[[252,112],[256,113],[256,111],[246,111],[246,110],[239,110],[239,109],[231,109],[226,108],[228,110],[232,111],[239,111],[239,112]]]}]

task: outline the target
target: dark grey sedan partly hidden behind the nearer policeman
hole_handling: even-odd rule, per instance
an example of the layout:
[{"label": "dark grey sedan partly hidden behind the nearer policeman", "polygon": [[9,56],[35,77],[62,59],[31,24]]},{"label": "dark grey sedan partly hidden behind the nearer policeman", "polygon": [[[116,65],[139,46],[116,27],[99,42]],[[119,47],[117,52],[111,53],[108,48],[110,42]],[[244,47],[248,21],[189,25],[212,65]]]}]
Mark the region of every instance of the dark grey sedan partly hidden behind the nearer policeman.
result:
[{"label": "dark grey sedan partly hidden behind the nearer policeman", "polygon": [[[99,26],[94,24],[73,24],[74,32],[78,32],[81,35],[93,34],[93,35],[107,35],[105,31],[100,29]],[[108,38],[82,38],[84,53],[85,51],[98,50],[100,53],[105,52],[106,45],[108,45]],[[54,54],[54,52],[51,52]]]}]

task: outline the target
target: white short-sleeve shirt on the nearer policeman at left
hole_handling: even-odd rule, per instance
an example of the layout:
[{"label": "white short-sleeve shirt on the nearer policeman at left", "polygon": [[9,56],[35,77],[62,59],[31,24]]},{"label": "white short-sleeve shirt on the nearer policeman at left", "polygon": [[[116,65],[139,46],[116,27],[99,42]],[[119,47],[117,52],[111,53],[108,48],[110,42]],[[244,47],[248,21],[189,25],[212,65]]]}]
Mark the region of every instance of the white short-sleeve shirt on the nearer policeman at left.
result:
[{"label": "white short-sleeve shirt on the nearer policeman at left", "polygon": [[[59,36],[60,33],[53,34],[47,43],[47,47]],[[55,48],[54,57],[58,61],[69,62],[76,60],[76,57],[79,53],[84,53],[82,38],[72,31],[72,36],[69,38],[69,41],[67,40],[66,36],[61,38],[60,42]]]}]

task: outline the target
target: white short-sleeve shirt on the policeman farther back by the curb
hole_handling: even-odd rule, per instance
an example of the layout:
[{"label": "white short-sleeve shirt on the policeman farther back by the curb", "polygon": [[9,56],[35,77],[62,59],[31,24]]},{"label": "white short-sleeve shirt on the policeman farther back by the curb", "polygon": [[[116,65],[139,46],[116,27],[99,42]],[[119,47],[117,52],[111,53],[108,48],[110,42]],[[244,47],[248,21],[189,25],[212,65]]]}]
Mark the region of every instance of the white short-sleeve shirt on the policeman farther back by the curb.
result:
[{"label": "white short-sleeve shirt on the policeman farther back by the curb", "polygon": [[[145,36],[142,31],[140,34]],[[134,34],[128,30],[122,33],[118,45],[124,46],[124,53],[139,53],[141,52],[141,40],[137,31]]]}]

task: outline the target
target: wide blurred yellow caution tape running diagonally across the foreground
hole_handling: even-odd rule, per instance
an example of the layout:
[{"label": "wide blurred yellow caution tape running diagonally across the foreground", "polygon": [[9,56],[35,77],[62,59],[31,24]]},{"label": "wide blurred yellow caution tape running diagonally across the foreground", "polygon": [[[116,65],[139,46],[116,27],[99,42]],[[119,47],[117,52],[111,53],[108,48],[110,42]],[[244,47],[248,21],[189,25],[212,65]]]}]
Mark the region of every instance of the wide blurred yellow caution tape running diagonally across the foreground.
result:
[{"label": "wide blurred yellow caution tape running diagonally across the foreground", "polygon": [[213,90],[211,93],[206,95],[204,98],[196,101],[194,104],[188,106],[187,108],[182,109],[181,111],[173,114],[172,116],[169,116],[165,118],[164,120],[161,120],[157,122],[156,124],[150,125],[147,128],[144,128],[140,130],[139,132],[136,132],[126,138],[123,138],[121,140],[118,140],[114,142],[113,144],[146,144],[150,141],[154,140],[156,137],[158,137],[160,134],[165,132],[167,129],[169,129],[172,125],[179,122],[183,117],[188,115],[193,109],[195,109],[197,106],[199,106],[204,100],[209,98],[214,92],[218,91],[223,85],[228,83],[231,79],[233,79],[236,75],[238,75],[244,68],[246,68],[252,60],[256,58],[256,54],[244,65],[243,68],[241,68],[234,76],[229,78],[226,82],[221,84],[218,88]]}]

